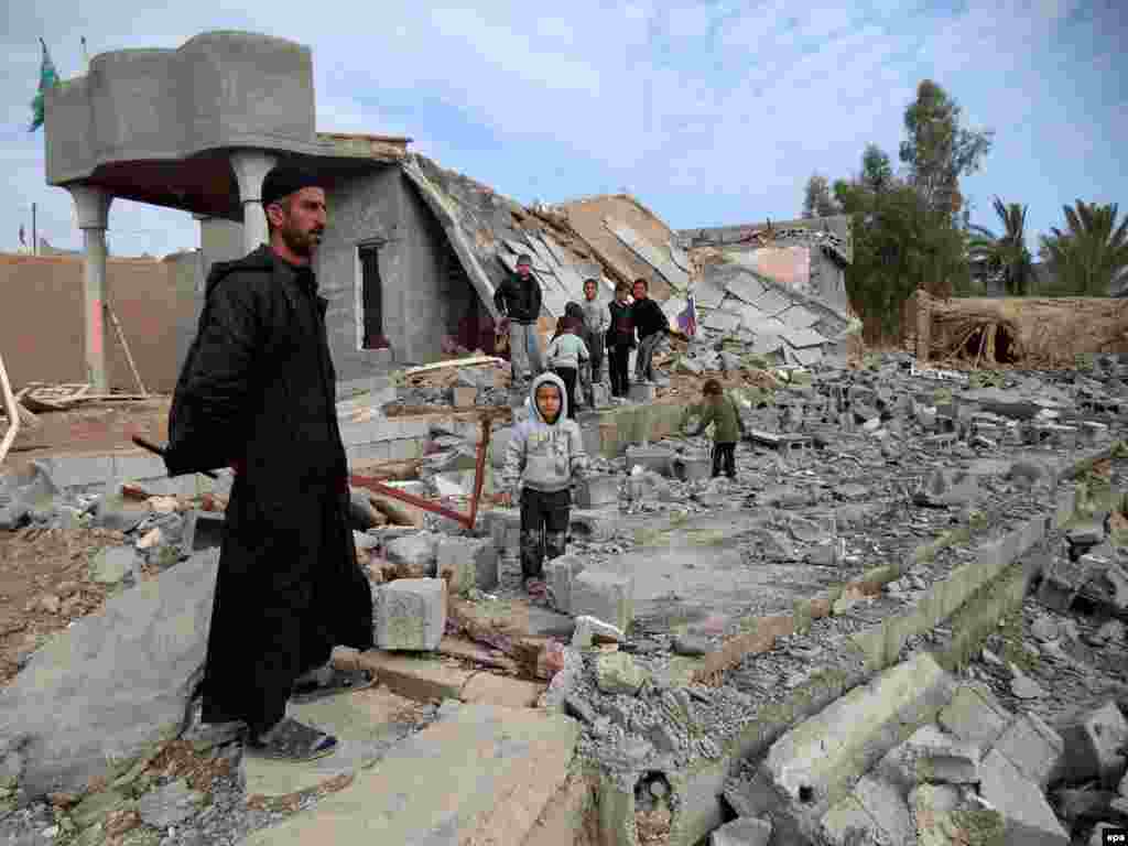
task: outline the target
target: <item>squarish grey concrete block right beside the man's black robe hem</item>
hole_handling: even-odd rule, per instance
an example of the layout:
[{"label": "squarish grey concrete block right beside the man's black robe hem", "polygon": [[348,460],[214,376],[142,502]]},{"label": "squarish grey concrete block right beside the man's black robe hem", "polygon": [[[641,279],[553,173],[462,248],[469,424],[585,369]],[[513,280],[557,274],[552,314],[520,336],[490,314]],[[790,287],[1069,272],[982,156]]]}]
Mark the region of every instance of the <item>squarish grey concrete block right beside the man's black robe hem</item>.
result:
[{"label": "squarish grey concrete block right beside the man's black robe hem", "polygon": [[397,579],[376,591],[376,645],[381,650],[433,651],[447,628],[447,582]]}]

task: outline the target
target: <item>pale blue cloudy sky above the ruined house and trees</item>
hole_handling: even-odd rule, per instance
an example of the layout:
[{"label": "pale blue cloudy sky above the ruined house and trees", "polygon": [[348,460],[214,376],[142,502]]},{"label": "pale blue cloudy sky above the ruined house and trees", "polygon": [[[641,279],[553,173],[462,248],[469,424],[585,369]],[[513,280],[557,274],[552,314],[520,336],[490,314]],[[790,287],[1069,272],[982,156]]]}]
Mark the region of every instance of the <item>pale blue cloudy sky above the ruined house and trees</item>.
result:
[{"label": "pale blue cloudy sky above the ruined house and trees", "polygon": [[[997,230],[995,194],[1026,203],[1033,247],[1078,197],[1128,213],[1123,0],[479,7],[3,3],[0,249],[17,248],[20,223],[30,243],[33,202],[41,235],[81,246],[70,194],[45,183],[43,131],[27,131],[37,39],[67,79],[85,72],[82,36],[94,56],[212,29],[309,46],[318,131],[409,135],[522,203],[626,188],[676,229],[797,217],[813,170],[851,175],[871,141],[898,164],[905,107],[932,78],[967,125],[996,131],[963,185],[972,222]],[[165,255],[199,246],[199,230],[187,213],[117,200],[109,243]]]}]

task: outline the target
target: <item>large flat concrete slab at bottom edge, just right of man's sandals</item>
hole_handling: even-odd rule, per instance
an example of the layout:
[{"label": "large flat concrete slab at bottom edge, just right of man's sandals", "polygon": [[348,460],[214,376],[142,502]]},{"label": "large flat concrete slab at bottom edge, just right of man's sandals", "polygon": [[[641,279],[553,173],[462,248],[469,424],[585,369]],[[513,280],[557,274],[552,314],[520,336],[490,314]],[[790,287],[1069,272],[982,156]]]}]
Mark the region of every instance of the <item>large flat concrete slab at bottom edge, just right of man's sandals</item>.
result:
[{"label": "large flat concrete slab at bottom edge, just right of man's sandals", "polygon": [[351,785],[243,844],[521,846],[565,785],[579,733],[562,714],[444,705]]}]

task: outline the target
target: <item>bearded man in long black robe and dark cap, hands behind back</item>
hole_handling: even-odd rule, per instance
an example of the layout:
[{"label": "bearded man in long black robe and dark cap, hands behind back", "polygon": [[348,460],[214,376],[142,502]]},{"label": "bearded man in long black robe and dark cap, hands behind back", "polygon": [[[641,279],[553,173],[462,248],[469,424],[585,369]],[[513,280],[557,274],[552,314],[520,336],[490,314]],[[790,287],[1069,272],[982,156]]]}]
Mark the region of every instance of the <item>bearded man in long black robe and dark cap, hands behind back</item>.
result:
[{"label": "bearded man in long black robe and dark cap, hands behind back", "polygon": [[[217,264],[169,412],[170,475],[231,466],[203,680],[203,722],[246,723],[247,748],[282,760],[336,739],[287,717],[302,682],[333,676],[335,645],[372,644],[371,588],[347,522],[349,467],[310,261],[325,191],[290,166],[263,180],[270,245]],[[316,682],[314,682],[316,687]],[[316,693],[316,691],[315,691]]]}]

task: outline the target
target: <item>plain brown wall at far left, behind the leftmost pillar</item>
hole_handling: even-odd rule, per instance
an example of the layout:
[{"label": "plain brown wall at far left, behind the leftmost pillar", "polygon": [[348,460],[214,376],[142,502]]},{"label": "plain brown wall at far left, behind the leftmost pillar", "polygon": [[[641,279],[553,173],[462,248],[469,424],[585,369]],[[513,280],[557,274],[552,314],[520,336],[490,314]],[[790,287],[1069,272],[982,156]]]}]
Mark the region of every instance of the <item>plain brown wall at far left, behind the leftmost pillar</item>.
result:
[{"label": "plain brown wall at far left, behind the leftmost pillar", "polygon": [[[187,261],[187,259],[185,259]],[[106,292],[146,388],[170,393],[176,384],[177,328],[191,301],[177,296],[177,262],[109,258]],[[28,381],[85,382],[82,259],[0,254],[0,351],[12,387]],[[107,320],[109,386],[136,389]]]}]

